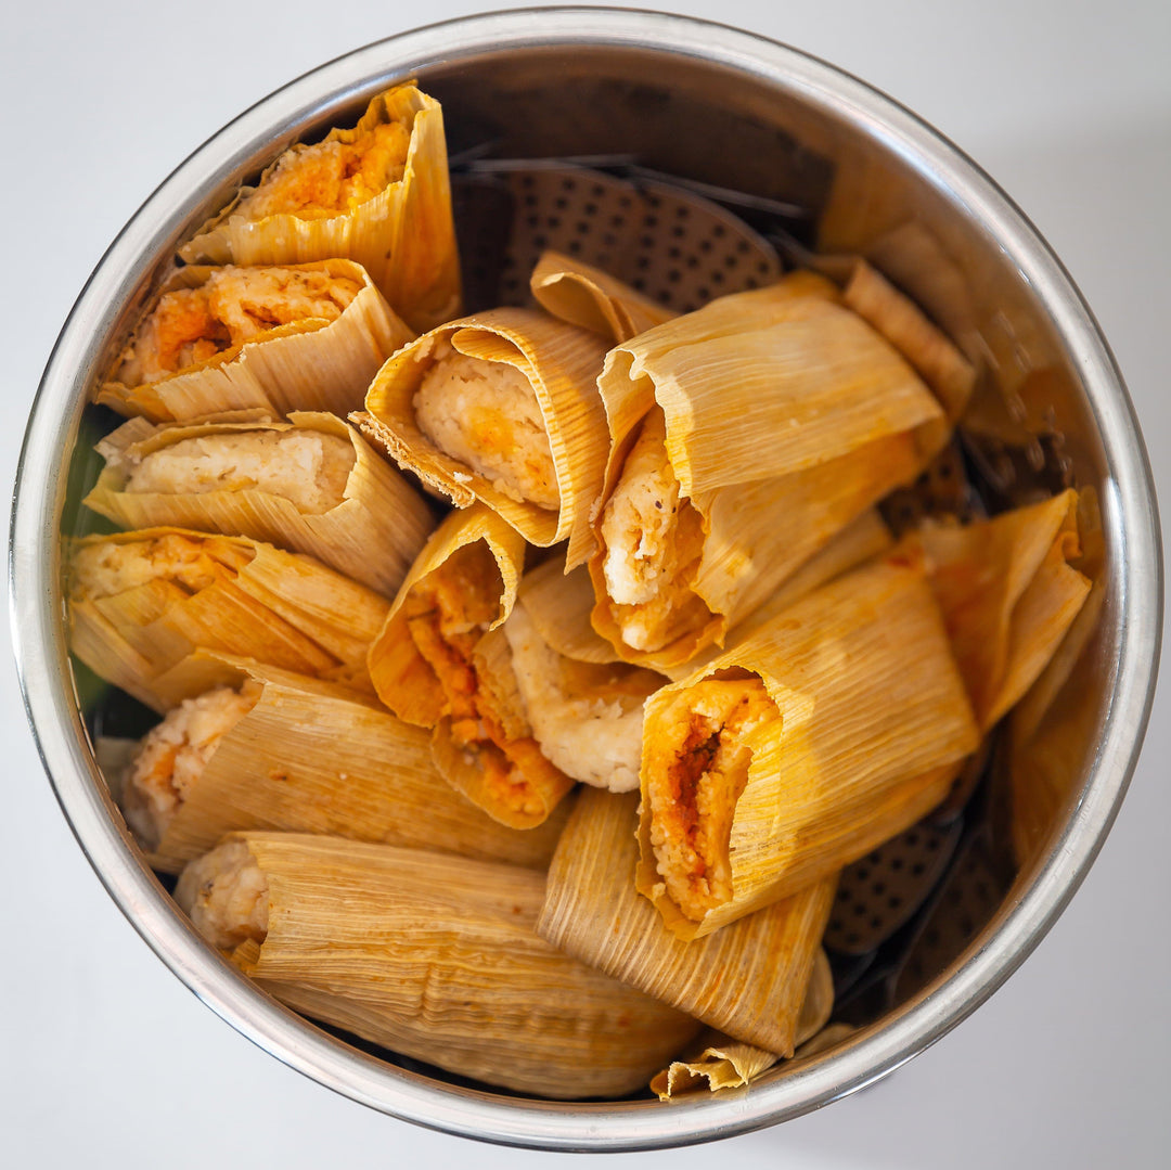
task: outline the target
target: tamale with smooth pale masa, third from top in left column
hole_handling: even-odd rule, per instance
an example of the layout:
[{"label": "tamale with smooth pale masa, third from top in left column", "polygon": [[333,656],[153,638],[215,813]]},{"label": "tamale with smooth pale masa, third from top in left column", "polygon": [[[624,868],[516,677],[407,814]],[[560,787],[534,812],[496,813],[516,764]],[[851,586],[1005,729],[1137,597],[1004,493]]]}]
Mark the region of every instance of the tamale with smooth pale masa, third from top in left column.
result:
[{"label": "tamale with smooth pale masa, third from top in left column", "polygon": [[327,413],[288,422],[133,422],[98,444],[87,507],[124,528],[178,525],[308,553],[388,597],[434,520],[354,427]]}]

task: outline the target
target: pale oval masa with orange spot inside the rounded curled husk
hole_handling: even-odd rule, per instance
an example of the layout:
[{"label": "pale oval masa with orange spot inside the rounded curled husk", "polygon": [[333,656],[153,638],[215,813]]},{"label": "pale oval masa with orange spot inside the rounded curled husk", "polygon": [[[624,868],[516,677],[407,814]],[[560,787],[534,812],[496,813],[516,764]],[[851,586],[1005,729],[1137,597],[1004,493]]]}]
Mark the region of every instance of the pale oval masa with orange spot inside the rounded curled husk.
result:
[{"label": "pale oval masa with orange spot inside the rounded curled husk", "polygon": [[413,406],[419,430],[497,491],[542,508],[560,507],[545,417],[516,367],[446,345],[424,375]]}]

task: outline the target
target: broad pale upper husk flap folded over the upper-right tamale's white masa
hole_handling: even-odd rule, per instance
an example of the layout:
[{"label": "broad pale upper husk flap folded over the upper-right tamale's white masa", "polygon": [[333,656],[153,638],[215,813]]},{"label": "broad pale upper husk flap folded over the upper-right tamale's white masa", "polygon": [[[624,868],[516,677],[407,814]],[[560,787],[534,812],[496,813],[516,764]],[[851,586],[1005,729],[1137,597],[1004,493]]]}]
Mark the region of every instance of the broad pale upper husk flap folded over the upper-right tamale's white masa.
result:
[{"label": "broad pale upper husk flap folded over the upper-right tamale's white masa", "polygon": [[[906,361],[812,273],[735,293],[607,355],[600,389],[615,445],[657,403],[684,495],[849,454],[941,411]],[[608,477],[609,479],[609,477]]]}]

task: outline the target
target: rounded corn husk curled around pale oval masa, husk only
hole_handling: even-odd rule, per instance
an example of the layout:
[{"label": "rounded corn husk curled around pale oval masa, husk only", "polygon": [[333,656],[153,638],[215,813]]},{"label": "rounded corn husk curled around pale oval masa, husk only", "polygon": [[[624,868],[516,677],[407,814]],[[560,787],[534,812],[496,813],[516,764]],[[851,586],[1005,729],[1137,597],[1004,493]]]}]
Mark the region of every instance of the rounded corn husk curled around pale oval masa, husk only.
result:
[{"label": "rounded corn husk curled around pale oval masa, husk only", "polygon": [[[561,506],[554,512],[515,500],[479,472],[440,451],[416,423],[416,392],[445,340],[470,357],[518,369],[533,386],[545,419]],[[404,467],[457,507],[481,500],[532,545],[569,540],[567,566],[581,563],[593,535],[589,512],[602,488],[610,450],[596,388],[605,343],[595,334],[535,309],[492,309],[464,317],[400,349],[378,372],[358,422]]]}]

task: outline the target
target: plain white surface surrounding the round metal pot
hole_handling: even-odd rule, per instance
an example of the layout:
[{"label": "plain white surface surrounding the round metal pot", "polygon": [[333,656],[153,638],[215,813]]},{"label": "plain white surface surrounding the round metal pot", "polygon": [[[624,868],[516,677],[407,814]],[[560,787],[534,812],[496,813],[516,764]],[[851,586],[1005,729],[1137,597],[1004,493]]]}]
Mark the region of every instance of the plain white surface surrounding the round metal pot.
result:
[{"label": "plain white surface surrounding the round metal pot", "polygon": [[[296,74],[475,7],[118,0],[6,12],[6,480],[74,297],[167,171]],[[1005,186],[1110,338],[1171,509],[1171,6],[701,0],[677,8],[856,73],[938,125]],[[6,625],[0,638],[0,1164],[569,1163],[365,1110],[283,1068],[189,994],[74,842],[25,724]],[[1171,1164],[1167,695],[1164,685],[1130,795],[1081,892],[974,1017],[895,1076],[819,1114],[714,1149],[638,1157],[670,1157],[679,1170],[712,1158],[735,1158],[745,1170]]]}]

